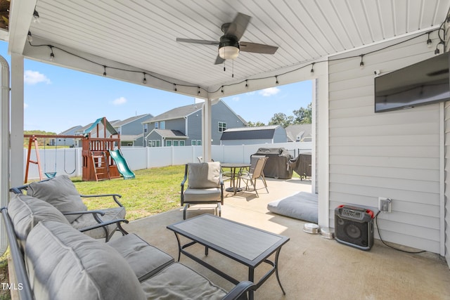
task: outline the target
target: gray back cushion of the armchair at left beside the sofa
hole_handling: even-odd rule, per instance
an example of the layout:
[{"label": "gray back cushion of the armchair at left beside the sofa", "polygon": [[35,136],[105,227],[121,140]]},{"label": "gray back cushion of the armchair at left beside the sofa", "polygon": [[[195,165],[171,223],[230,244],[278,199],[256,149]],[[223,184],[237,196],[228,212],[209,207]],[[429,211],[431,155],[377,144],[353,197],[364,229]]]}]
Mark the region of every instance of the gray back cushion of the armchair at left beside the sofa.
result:
[{"label": "gray back cushion of the armchair at left beside the sofa", "polygon": [[[48,181],[30,183],[27,195],[49,202],[61,212],[86,211],[82,198],[67,175],[56,176]],[[72,223],[80,215],[66,216]]]}]

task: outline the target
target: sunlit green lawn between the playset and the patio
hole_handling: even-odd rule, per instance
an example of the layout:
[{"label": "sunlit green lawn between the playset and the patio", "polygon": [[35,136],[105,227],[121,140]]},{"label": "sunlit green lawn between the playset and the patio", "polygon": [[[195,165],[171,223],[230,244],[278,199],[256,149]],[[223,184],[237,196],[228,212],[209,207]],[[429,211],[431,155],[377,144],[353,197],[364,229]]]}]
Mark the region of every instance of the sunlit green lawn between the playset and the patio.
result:
[{"label": "sunlit green lawn between the playset and the patio", "polygon": [[[134,171],[136,178],[108,181],[82,181],[72,177],[77,190],[84,195],[114,193],[122,195],[120,202],[127,209],[127,220],[141,219],[180,207],[180,183],[184,177],[184,165],[151,168]],[[83,199],[88,209],[113,207],[110,198]],[[108,205],[109,204],[109,205]]]}]

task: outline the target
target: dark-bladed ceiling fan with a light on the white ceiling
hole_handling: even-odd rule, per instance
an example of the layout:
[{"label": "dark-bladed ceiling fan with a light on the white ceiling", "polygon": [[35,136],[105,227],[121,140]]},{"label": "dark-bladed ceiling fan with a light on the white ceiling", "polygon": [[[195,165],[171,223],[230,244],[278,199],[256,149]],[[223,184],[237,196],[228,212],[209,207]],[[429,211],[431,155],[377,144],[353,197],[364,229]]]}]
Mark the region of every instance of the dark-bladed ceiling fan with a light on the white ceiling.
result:
[{"label": "dark-bladed ceiling fan with a light on the white ceiling", "polygon": [[219,46],[219,54],[217,56],[215,65],[223,63],[227,59],[234,59],[239,56],[239,51],[274,54],[278,47],[264,44],[250,43],[248,41],[239,41],[243,36],[248,23],[250,22],[250,15],[238,13],[231,23],[224,23],[221,26],[224,35],[220,37],[219,41],[205,41],[203,39],[181,39],[176,38],[176,41],[193,44],[204,44]]}]

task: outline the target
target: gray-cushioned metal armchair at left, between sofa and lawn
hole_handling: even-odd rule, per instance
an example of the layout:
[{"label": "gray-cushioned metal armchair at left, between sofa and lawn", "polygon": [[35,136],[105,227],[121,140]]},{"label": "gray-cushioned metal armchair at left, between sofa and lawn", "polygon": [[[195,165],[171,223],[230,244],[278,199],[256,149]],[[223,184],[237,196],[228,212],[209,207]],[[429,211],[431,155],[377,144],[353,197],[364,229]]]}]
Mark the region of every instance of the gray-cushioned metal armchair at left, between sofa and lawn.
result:
[{"label": "gray-cushioned metal armchair at left, between sofa and lawn", "polygon": [[[119,230],[122,235],[127,234],[127,231],[120,224],[120,221],[126,222],[124,220],[126,214],[125,207],[118,200],[118,198],[122,197],[120,195],[80,195],[67,175],[56,176],[44,181],[37,181],[17,188],[11,188],[11,192],[16,194],[23,193],[24,191],[26,191],[28,196],[44,200],[53,205],[53,207],[56,207],[56,209],[63,213],[72,227],[82,229],[94,226],[91,230],[84,231],[86,235],[96,239],[105,238],[108,242],[116,230]],[[89,211],[82,201],[82,198],[89,197],[112,197],[117,207]],[[108,223],[110,221],[112,222],[108,226],[96,226],[98,223]]]}]

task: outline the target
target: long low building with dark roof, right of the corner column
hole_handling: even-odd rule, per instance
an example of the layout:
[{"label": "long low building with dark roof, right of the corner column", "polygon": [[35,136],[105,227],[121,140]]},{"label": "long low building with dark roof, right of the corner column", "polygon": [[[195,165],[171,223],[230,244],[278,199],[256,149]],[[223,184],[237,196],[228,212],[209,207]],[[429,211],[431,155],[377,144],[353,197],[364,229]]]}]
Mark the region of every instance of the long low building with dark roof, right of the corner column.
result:
[{"label": "long low building with dark roof, right of the corner column", "polygon": [[221,145],[255,145],[285,143],[286,131],[281,125],[226,129],[220,138]]}]

